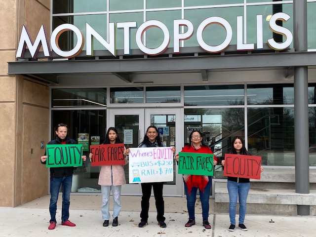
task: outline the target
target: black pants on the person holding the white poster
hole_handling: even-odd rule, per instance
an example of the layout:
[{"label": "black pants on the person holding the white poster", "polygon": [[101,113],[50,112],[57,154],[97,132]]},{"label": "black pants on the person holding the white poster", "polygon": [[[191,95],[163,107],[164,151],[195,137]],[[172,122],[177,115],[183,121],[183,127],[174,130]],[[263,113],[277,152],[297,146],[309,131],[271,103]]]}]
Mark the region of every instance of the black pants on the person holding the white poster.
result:
[{"label": "black pants on the person holding the white poster", "polygon": [[164,215],[164,201],[162,197],[163,183],[142,183],[142,211],[140,213],[141,221],[148,220],[148,210],[149,210],[149,198],[152,193],[152,187],[154,189],[154,196],[156,200],[157,208],[157,221],[164,221],[166,218]]}]

